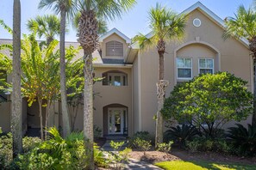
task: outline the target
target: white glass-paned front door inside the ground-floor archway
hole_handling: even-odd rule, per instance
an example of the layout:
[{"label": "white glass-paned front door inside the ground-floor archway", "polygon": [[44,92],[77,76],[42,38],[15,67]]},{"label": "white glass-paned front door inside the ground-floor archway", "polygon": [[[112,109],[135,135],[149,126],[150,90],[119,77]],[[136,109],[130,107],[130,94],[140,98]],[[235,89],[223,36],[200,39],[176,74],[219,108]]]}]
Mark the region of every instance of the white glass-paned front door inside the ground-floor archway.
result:
[{"label": "white glass-paned front door inside the ground-floor archway", "polygon": [[124,129],[126,112],[123,108],[109,108],[109,135],[121,135]]}]

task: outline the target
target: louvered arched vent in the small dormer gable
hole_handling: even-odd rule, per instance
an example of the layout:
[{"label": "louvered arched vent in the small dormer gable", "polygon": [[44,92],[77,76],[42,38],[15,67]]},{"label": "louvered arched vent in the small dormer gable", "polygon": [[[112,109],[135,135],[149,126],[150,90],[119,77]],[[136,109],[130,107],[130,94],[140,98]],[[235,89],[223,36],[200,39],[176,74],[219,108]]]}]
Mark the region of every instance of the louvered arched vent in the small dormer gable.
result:
[{"label": "louvered arched vent in the small dormer gable", "polygon": [[123,45],[121,42],[112,40],[106,43],[106,56],[123,56]]}]

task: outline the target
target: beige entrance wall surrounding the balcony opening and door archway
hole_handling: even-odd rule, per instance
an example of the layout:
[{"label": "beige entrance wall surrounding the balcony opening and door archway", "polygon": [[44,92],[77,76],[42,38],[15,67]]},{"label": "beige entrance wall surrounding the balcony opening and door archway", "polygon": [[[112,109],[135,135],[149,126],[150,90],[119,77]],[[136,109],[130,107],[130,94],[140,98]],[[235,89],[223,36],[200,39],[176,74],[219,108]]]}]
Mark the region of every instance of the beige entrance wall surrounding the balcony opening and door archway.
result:
[{"label": "beige entrance wall surrounding the balcony opening and door archway", "polygon": [[[94,98],[94,124],[103,130],[103,106],[110,104],[121,104],[128,107],[128,133],[132,132],[132,70],[130,68],[95,68],[95,76],[102,77],[102,74],[109,70],[119,70],[128,75],[128,86],[103,86],[103,82],[96,82],[93,91],[96,93]],[[83,107],[78,110],[78,117],[75,129],[83,130]]]}]

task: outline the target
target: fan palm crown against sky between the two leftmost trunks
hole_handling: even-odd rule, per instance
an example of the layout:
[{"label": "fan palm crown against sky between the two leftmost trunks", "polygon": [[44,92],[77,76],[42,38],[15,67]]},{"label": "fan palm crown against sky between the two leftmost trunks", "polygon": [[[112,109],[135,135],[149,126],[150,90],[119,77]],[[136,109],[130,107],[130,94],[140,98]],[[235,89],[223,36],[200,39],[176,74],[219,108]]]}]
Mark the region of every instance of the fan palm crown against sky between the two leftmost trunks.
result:
[{"label": "fan palm crown against sky between the two leftmost trunks", "polygon": [[60,33],[60,21],[56,15],[36,16],[28,20],[28,30],[37,33],[38,37],[47,39],[47,46],[53,41],[54,37]]}]

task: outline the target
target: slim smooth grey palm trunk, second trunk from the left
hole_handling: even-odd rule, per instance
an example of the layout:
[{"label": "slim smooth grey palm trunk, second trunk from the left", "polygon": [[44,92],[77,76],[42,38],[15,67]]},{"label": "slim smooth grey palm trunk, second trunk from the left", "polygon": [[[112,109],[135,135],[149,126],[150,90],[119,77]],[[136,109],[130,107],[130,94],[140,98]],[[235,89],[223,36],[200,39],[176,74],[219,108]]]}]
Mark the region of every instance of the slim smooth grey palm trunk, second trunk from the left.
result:
[{"label": "slim smooth grey palm trunk, second trunk from the left", "polygon": [[62,124],[63,136],[66,137],[71,133],[70,119],[67,110],[66,101],[66,63],[65,63],[65,33],[66,33],[66,10],[62,9],[60,12],[60,95],[61,95],[61,108],[62,108]]}]

